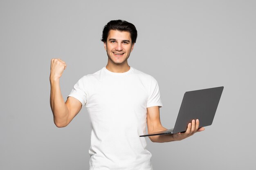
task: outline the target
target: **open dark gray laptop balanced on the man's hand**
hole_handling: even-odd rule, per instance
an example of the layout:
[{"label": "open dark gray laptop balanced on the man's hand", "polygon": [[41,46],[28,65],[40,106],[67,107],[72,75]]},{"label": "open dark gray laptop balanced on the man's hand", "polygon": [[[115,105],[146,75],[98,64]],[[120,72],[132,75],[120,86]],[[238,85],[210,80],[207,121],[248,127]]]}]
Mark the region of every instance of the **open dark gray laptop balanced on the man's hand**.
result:
[{"label": "open dark gray laptop balanced on the man's hand", "polygon": [[200,127],[211,125],[223,88],[224,87],[222,86],[197,91],[187,91],[184,94],[180,111],[173,129],[149,133],[141,135],[140,137],[185,132],[188,124],[193,119],[199,119]]}]

